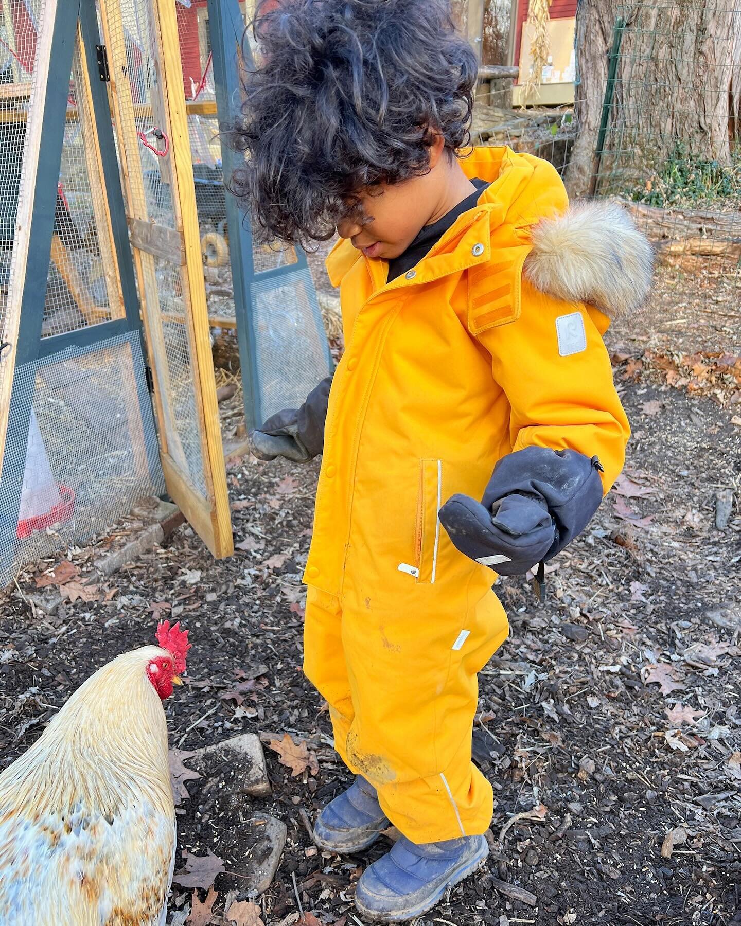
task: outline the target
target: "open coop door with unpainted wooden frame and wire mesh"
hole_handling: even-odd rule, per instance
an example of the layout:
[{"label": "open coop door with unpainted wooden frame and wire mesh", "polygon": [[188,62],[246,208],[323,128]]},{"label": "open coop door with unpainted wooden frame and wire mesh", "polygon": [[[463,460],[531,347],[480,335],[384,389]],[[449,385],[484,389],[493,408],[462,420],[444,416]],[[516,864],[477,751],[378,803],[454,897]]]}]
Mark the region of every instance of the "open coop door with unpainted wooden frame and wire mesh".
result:
[{"label": "open coop door with unpainted wooden frame and wire mesh", "polygon": [[100,0],[168,491],[216,557],[232,527],[175,0]]}]

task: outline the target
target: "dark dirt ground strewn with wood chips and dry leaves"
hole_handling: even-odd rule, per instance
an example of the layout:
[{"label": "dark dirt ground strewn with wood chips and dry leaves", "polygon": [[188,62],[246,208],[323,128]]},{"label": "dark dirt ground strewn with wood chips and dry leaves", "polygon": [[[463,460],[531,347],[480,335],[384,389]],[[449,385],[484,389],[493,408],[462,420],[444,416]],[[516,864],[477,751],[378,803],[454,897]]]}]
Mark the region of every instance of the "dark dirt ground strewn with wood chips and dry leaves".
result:
[{"label": "dark dirt ground strewn with wood chips and dry leaves", "polygon": [[[421,926],[741,922],[741,315],[737,289],[722,298],[700,289],[662,272],[647,314],[609,332],[634,436],[616,489],[552,564],[546,603],[524,579],[497,582],[511,634],[481,675],[473,734],[495,787],[493,851]],[[227,922],[225,900],[242,897],[260,814],[288,829],[257,900],[266,926],[361,923],[354,885],[390,845],[383,837],[342,859],[308,835],[349,782],[301,673],[317,473],[249,457],[230,464],[237,552],[228,560],[214,562],[183,526],[111,577],[100,600],[31,613],[27,594],[55,560],[34,564],[2,598],[0,768],[94,669],[149,643],[158,617],[181,619],[193,641],[186,684],[165,705],[171,747],[242,732],[308,742],[311,762],[295,777],[266,745],[272,795],[232,804],[232,818],[204,780],[185,782],[180,850],[208,850],[225,869],[214,923]],[[84,576],[108,543],[69,558]],[[193,894],[174,888],[172,923],[187,922]]]}]

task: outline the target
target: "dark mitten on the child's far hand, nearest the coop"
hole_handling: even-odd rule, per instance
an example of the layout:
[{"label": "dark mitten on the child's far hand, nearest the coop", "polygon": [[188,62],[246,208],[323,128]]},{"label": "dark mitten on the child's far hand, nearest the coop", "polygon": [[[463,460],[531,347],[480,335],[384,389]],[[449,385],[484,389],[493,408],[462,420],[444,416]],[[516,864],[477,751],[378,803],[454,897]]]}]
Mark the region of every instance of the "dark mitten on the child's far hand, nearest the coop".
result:
[{"label": "dark mitten on the child's far hand, nearest the coop", "polygon": [[286,457],[308,463],[324,447],[324,421],[330,399],[332,376],[312,389],[300,408],[283,408],[260,427],[247,434],[249,448],[261,460]]}]

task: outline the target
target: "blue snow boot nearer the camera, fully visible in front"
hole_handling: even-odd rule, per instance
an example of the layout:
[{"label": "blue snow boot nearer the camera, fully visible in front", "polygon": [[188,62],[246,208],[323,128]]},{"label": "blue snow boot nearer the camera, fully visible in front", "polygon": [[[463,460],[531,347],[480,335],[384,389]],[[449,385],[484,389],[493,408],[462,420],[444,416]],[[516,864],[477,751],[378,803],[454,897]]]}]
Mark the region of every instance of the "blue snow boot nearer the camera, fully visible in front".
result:
[{"label": "blue snow boot nearer the camera, fully visible in front", "polygon": [[405,922],[421,917],[446,890],[478,869],[489,854],[484,836],[414,845],[402,836],[391,852],[367,868],[355,904],[369,920]]}]

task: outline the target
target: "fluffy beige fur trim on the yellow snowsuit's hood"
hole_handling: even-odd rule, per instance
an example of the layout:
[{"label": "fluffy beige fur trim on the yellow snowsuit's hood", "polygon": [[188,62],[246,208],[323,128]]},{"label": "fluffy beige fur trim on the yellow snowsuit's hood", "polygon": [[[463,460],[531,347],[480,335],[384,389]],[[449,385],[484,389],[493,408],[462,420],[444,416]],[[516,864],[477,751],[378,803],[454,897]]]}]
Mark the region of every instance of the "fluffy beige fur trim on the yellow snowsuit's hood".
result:
[{"label": "fluffy beige fur trim on the yellow snowsuit's hood", "polygon": [[531,230],[533,250],[523,272],[535,289],[566,302],[588,302],[612,319],[646,302],[653,249],[615,203],[584,201]]}]

